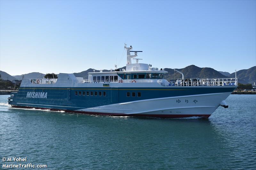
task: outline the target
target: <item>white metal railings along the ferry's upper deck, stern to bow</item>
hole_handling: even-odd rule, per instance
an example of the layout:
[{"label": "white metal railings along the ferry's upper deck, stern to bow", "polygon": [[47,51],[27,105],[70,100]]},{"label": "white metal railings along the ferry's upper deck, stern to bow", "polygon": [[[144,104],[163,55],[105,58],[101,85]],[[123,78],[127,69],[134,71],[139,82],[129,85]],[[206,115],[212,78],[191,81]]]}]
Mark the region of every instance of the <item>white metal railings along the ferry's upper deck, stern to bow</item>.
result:
[{"label": "white metal railings along the ferry's upper deck, stern to bow", "polygon": [[[30,79],[32,84],[55,84],[57,78]],[[75,83],[159,83],[162,86],[223,86],[237,85],[237,78],[185,78],[185,79],[128,79],[88,80],[76,79]]]}]

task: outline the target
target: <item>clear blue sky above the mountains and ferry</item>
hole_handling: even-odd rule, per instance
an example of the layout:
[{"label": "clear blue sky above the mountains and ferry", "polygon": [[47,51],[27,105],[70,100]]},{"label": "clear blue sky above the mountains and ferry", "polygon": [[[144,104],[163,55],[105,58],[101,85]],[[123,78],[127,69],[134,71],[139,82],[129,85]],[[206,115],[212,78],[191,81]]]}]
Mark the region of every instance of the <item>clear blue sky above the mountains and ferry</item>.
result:
[{"label": "clear blue sky above the mountains and ferry", "polygon": [[114,69],[124,42],[153,67],[248,69],[256,1],[0,1],[0,70],[11,75]]}]

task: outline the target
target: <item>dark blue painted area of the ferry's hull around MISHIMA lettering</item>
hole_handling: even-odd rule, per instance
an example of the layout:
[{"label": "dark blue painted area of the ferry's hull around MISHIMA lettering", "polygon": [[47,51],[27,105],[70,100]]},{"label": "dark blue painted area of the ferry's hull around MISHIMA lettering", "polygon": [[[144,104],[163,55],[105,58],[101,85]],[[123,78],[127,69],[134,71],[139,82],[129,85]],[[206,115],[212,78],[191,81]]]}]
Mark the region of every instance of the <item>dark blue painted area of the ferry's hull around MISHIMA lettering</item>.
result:
[{"label": "dark blue painted area of the ferry's hull around MISHIMA lettering", "polygon": [[[90,108],[104,106],[122,102],[135,100],[146,100],[154,98],[233,92],[236,86],[233,87],[167,87],[167,88],[25,88],[21,87],[19,92],[12,92],[14,96],[9,102],[12,106],[21,107],[38,107],[58,110],[78,110],[81,108]],[[27,98],[28,92],[47,92],[47,98]],[[75,95],[77,92],[77,95]],[[81,92],[81,95],[79,95]],[[85,92],[85,95],[83,95]],[[89,92],[89,96],[87,96]],[[91,96],[93,92],[93,96]],[[97,92],[97,96],[94,96]],[[99,96],[101,92],[101,96]],[[106,96],[103,96],[106,92]],[[130,97],[127,97],[127,92],[130,92]],[[132,97],[132,92],[135,92],[135,97]],[[138,92],[141,97],[138,97]]]}]

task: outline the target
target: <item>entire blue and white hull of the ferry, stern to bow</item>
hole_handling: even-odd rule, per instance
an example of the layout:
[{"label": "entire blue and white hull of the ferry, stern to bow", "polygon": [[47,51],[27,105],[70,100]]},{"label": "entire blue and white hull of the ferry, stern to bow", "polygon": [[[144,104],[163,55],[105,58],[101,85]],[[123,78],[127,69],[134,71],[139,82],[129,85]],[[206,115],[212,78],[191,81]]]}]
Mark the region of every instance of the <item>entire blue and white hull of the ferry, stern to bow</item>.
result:
[{"label": "entire blue and white hull of the ferry, stern to bow", "polygon": [[[68,76],[67,76],[68,75]],[[60,79],[72,78],[60,74]],[[62,85],[62,87],[60,87]],[[13,107],[64,110],[81,114],[209,117],[236,86],[162,86],[159,83],[72,83],[52,85],[23,81],[19,92],[13,92]],[[145,88],[145,86],[148,86]],[[127,93],[130,95],[127,96]],[[138,96],[138,94],[140,95]],[[133,96],[134,94],[134,96]]]}]

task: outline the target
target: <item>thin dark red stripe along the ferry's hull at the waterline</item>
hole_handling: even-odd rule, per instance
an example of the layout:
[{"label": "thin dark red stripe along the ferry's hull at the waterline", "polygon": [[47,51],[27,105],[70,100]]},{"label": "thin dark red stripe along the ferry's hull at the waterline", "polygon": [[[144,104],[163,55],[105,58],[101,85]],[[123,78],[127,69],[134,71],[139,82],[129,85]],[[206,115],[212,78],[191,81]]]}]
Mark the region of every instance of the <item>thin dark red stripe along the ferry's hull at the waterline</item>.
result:
[{"label": "thin dark red stripe along the ferry's hull at the waterline", "polygon": [[85,115],[107,115],[107,116],[138,116],[138,117],[158,117],[158,118],[184,118],[184,117],[193,117],[193,116],[208,118],[211,116],[211,115],[151,115],[151,114],[144,115],[144,114],[122,114],[122,113],[109,114],[109,113],[84,112],[84,111],[76,111],[76,110],[50,109],[50,108],[43,108],[43,107],[28,107],[28,106],[15,106],[15,105],[12,105],[12,107],[35,108],[35,109],[51,110],[51,111],[65,111],[68,113],[78,113],[78,114],[85,114]]}]

